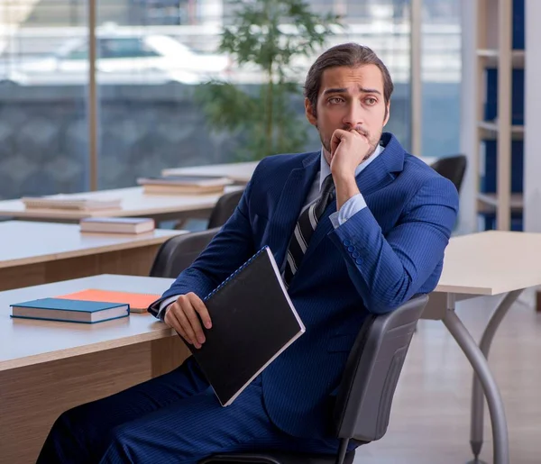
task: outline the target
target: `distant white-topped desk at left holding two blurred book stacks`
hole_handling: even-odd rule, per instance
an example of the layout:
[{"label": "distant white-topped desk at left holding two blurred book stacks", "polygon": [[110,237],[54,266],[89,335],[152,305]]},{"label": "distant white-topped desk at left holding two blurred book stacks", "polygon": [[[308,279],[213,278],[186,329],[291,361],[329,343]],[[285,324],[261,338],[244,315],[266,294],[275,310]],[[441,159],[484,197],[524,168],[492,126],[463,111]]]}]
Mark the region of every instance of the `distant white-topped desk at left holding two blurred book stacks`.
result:
[{"label": "distant white-topped desk at left holding two blurred book stacks", "polygon": [[[230,192],[243,187],[225,187]],[[69,211],[60,209],[27,209],[20,199],[0,201],[0,216],[17,219],[55,221],[62,223],[78,222],[84,217],[96,216],[136,216],[151,217],[156,222],[184,217],[208,217],[222,194],[212,195],[144,195],[142,187],[116,188],[70,194],[84,198],[120,198],[120,209],[101,211]]]}]

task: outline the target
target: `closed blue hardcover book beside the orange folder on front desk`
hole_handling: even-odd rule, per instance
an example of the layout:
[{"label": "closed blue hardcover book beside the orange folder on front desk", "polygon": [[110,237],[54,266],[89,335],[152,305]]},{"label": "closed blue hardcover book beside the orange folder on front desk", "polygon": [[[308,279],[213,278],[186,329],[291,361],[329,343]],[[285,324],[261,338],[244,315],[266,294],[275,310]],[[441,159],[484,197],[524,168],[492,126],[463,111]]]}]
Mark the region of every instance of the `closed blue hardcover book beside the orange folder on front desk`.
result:
[{"label": "closed blue hardcover book beside the orange folder on front desk", "polygon": [[130,314],[130,305],[126,304],[63,298],[40,298],[10,306],[12,317],[67,323],[103,323]]}]

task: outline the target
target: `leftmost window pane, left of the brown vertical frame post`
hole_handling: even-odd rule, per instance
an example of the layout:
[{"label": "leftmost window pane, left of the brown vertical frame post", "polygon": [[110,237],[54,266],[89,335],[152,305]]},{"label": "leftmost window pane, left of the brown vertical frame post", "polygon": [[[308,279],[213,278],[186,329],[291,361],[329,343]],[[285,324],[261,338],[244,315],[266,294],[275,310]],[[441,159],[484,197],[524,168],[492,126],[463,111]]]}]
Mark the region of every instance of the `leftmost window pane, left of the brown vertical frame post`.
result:
[{"label": "leftmost window pane, left of the brown vertical frame post", "polygon": [[57,58],[80,39],[72,62],[84,66],[87,2],[10,0],[0,9],[0,198],[85,191],[87,76],[74,84]]}]

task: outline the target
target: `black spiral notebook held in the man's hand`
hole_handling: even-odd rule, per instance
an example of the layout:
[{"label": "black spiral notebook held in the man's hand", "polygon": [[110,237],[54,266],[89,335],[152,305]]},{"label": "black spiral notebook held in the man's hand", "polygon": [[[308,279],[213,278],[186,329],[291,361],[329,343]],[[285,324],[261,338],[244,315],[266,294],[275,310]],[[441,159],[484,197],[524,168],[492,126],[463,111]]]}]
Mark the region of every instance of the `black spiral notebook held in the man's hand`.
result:
[{"label": "black spiral notebook held in the man's hand", "polygon": [[187,343],[221,405],[227,406],[305,332],[264,247],[203,299],[212,328],[197,350]]}]

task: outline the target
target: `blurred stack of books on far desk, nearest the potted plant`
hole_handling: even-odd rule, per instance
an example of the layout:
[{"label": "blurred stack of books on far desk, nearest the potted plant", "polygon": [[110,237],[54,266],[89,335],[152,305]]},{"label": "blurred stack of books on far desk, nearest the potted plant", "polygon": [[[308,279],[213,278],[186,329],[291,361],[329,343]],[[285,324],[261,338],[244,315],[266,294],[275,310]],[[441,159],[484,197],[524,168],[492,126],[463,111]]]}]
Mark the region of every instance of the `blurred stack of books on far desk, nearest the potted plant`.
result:
[{"label": "blurred stack of books on far desk, nearest the potted plant", "polygon": [[151,195],[208,195],[223,194],[225,186],[233,184],[228,177],[166,176],[140,177],[137,183]]}]

